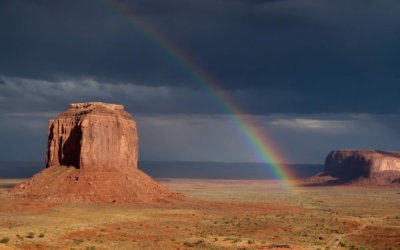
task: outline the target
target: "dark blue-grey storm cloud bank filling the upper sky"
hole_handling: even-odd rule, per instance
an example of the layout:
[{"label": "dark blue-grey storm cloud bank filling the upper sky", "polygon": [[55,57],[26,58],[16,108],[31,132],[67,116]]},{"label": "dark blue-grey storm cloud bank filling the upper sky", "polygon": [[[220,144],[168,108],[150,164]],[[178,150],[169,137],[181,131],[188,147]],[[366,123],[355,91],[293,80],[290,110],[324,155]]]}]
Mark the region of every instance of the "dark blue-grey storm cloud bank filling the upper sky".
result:
[{"label": "dark blue-grey storm cloud bank filling the upper sky", "polygon": [[[181,91],[199,84],[100,2],[1,1],[0,74],[55,84],[89,77],[166,86],[172,91],[166,105],[132,106],[221,112],[208,97]],[[119,3],[201,65],[249,113],[400,113],[399,1]]]}]

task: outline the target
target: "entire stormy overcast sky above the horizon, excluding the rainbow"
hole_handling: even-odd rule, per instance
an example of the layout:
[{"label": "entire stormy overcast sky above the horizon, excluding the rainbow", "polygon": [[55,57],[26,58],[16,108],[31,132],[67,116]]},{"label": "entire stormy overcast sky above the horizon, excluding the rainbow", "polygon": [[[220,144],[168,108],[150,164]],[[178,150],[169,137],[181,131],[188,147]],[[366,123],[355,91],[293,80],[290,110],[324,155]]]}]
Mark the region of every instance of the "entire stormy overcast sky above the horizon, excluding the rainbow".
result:
[{"label": "entire stormy overcast sky above the horizon, excluding the rainbow", "polygon": [[398,0],[0,0],[0,160],[44,161],[48,120],[102,101],[133,115],[140,160],[257,161],[163,41],[287,163],[400,151],[399,13]]}]

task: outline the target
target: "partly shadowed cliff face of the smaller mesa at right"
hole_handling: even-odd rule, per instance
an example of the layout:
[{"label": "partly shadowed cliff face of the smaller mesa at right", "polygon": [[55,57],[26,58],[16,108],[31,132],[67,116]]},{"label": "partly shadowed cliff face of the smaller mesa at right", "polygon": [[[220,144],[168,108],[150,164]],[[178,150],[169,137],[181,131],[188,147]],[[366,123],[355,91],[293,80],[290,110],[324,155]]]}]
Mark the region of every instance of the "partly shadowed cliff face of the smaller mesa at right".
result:
[{"label": "partly shadowed cliff face of the smaller mesa at right", "polygon": [[336,150],[325,159],[325,173],[332,177],[371,177],[383,171],[400,171],[400,152]]}]

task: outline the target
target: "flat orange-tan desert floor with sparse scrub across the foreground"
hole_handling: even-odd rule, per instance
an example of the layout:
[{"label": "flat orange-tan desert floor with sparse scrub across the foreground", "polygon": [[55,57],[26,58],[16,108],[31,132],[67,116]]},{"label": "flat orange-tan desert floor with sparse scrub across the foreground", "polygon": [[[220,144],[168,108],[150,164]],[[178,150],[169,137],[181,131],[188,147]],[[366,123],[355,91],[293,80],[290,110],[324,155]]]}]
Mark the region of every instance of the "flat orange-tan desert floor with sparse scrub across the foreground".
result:
[{"label": "flat orange-tan desert floor with sparse scrub across the foreground", "polygon": [[[19,181],[0,180],[0,192]],[[400,249],[398,188],[158,181],[186,198],[0,204],[0,249]]]}]

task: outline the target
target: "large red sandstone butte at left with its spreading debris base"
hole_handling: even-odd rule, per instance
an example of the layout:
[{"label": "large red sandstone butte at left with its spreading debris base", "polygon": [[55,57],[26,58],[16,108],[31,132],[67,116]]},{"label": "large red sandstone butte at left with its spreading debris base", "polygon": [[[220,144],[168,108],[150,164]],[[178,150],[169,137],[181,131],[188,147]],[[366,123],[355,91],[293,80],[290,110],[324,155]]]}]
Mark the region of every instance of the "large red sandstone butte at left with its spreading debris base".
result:
[{"label": "large red sandstone butte at left with its spreading debris base", "polygon": [[45,169],[0,198],[130,203],[183,197],[137,168],[138,146],[136,123],[122,105],[73,103],[49,122]]}]

